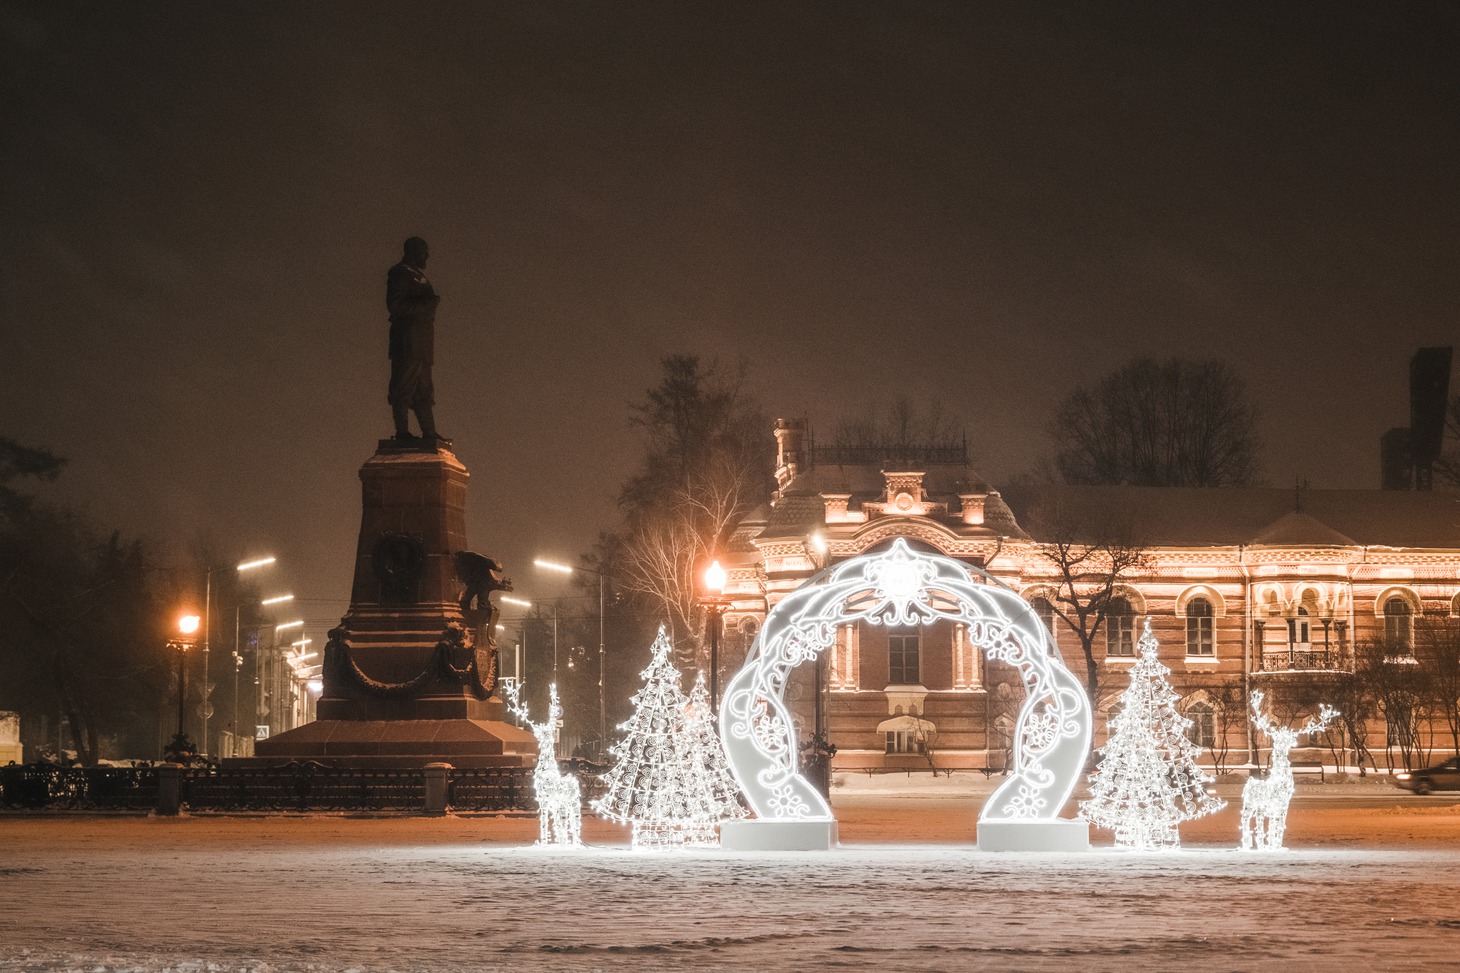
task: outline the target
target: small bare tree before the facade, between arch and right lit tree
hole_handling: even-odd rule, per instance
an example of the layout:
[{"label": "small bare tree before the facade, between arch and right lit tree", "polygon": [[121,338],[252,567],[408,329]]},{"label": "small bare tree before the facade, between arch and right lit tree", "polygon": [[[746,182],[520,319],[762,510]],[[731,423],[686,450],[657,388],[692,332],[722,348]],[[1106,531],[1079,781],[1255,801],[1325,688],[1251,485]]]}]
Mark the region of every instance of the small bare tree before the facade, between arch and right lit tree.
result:
[{"label": "small bare tree before the facade, between arch and right lit tree", "polygon": [[1053,573],[1056,617],[1079,638],[1085,653],[1085,684],[1099,707],[1101,668],[1095,640],[1105,631],[1121,579],[1148,567],[1143,545],[1127,524],[1091,510],[1076,510],[1056,497],[1026,517],[1035,554]]}]

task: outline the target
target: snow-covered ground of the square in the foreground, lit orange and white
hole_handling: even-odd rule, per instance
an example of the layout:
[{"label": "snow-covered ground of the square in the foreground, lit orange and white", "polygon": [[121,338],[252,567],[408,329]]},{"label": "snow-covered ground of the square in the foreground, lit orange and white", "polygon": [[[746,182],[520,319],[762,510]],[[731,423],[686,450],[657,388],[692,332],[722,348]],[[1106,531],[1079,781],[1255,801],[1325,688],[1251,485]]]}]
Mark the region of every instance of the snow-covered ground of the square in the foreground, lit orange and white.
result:
[{"label": "snow-covered ground of the square in the foreground, lit orange and white", "polygon": [[0,969],[1460,969],[1456,795],[1299,786],[1282,855],[1228,850],[1235,806],[1175,855],[987,855],[993,783],[848,779],[842,849],[799,855],[637,855],[597,820],[553,852],[523,817],[6,817]]}]

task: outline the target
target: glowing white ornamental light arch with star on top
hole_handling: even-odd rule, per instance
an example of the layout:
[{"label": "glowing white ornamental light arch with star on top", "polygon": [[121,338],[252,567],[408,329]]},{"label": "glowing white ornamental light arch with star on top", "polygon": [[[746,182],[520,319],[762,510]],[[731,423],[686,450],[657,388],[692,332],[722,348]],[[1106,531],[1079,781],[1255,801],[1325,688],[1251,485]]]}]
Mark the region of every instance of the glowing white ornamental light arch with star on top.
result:
[{"label": "glowing white ornamental light arch with star on top", "polygon": [[978,817],[984,850],[1085,850],[1089,825],[1060,818],[1091,749],[1085,687],[1051,652],[1040,617],[1018,593],[972,565],[915,551],[898,538],[879,554],[835,564],[769,611],[745,666],[720,701],[720,738],[755,812],[721,827],[733,849],[800,850],[835,844],[826,799],[796,770],[797,741],[784,692],[791,669],[815,659],[851,622],[965,625],[969,641],[1019,671],[1025,704],[1013,763]]}]

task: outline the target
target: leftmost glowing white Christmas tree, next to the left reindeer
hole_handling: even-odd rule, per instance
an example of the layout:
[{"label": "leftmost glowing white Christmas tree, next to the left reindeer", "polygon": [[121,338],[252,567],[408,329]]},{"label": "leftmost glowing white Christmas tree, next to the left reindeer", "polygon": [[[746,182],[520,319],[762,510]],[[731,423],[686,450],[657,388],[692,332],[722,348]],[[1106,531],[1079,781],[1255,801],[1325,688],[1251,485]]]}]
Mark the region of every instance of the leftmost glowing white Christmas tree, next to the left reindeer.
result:
[{"label": "leftmost glowing white Christmas tree, next to the left reindeer", "polygon": [[689,700],[679,688],[679,669],[669,660],[672,646],[658,628],[653,657],[634,694],[634,716],[620,723],[623,739],[613,745],[613,767],[603,776],[604,795],[593,802],[603,817],[634,825],[634,847],[675,847],[685,843],[689,815],[679,736]]}]

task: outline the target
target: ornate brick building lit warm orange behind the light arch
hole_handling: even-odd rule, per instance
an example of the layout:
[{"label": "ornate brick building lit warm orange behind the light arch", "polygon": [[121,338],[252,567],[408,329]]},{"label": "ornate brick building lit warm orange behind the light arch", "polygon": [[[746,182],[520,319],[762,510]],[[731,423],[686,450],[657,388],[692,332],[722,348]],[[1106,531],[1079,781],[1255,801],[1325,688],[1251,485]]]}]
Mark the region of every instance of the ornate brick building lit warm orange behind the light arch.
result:
[{"label": "ornate brick building lit warm orange behind the light arch", "polygon": [[[777,422],[775,437],[775,494],[740,523],[724,558],[723,674],[785,595],[840,560],[907,538],[1019,592],[1085,681],[1083,641],[1060,618],[1072,609],[1060,545],[1118,532],[1136,557],[1099,599],[1089,660],[1096,745],[1149,619],[1193,738],[1242,763],[1261,758],[1245,719],[1251,690],[1267,692],[1279,720],[1305,717],[1350,691],[1343,676],[1362,646],[1387,640],[1399,665],[1416,622],[1460,617],[1453,494],[1045,487],[1006,498],[964,449],[819,450],[797,419]],[[961,625],[847,625],[802,669],[785,698],[802,739],[822,730],[838,767],[1007,760],[1022,684]],[[1394,735],[1381,709],[1364,730],[1380,766],[1393,763]],[[1448,752],[1448,729],[1426,726],[1421,751]]]}]

